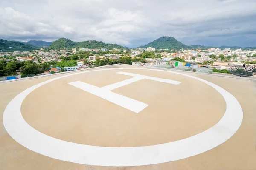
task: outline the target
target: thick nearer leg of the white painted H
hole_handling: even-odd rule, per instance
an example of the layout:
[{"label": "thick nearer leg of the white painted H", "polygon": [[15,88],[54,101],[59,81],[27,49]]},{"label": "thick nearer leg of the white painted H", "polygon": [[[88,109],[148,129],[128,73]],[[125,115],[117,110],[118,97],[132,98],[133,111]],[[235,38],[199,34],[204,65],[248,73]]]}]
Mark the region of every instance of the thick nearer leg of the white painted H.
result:
[{"label": "thick nearer leg of the white painted H", "polygon": [[139,113],[140,111],[142,111],[144,108],[148,106],[143,102],[131,99],[126,96],[122,96],[120,94],[116,94],[112,91],[106,91],[102,88],[87,84],[85,82],[77,81],[77,82],[70,82],[68,84],[73,85],[77,88],[80,88],[81,90],[87,91],[96,96],[99,96],[102,99],[115,103],[116,105],[127,108],[128,110],[133,111],[135,113]]}]

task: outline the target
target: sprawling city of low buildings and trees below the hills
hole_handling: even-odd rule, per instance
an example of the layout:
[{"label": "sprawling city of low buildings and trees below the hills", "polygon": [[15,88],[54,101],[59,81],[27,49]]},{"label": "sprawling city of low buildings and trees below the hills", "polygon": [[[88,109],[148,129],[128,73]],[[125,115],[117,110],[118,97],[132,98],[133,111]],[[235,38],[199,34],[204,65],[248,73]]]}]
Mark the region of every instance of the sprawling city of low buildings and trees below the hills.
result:
[{"label": "sprawling city of low buildings and trees below the hills", "polygon": [[[166,38],[166,37],[161,37]],[[161,39],[160,38],[160,39]],[[167,37],[171,39],[172,37]],[[173,39],[173,38],[172,38]],[[66,40],[66,39],[65,39]],[[177,40],[176,40],[177,41]],[[49,46],[32,51],[0,53],[1,81],[64,71],[83,70],[103,65],[131,64],[194,72],[226,73],[234,65],[256,66],[256,49],[207,48],[156,49],[153,47],[124,48],[65,48],[57,50]],[[92,42],[88,42],[92,43]],[[103,43],[104,44],[104,43]],[[169,45],[175,46],[171,43]],[[34,47],[36,48],[36,47]]]}]

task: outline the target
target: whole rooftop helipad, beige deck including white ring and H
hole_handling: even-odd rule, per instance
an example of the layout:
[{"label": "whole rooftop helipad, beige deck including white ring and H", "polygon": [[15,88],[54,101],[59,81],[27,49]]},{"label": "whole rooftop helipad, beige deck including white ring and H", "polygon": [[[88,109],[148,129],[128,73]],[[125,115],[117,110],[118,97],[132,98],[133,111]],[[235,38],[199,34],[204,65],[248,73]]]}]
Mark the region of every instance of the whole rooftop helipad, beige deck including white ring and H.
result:
[{"label": "whole rooftop helipad, beige deck including white ring and H", "polygon": [[0,99],[0,170],[256,169],[254,79],[112,65]]}]

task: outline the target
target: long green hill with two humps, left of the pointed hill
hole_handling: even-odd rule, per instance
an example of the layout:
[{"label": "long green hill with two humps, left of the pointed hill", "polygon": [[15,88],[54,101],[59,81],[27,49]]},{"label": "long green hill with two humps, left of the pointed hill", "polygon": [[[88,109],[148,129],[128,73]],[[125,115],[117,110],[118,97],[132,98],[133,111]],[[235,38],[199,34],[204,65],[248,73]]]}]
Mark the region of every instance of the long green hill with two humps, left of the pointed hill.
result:
[{"label": "long green hill with two humps, left of the pointed hill", "polygon": [[91,48],[91,49],[100,49],[100,48],[106,48],[108,50],[111,50],[113,48],[118,48],[118,49],[124,49],[123,46],[117,45],[117,44],[108,44],[104,43],[102,41],[96,41],[96,40],[90,40],[90,41],[82,41],[82,42],[73,42],[70,39],[66,38],[60,38],[53,42],[50,46],[49,49],[53,50],[64,50],[66,49],[71,49],[71,48]]}]

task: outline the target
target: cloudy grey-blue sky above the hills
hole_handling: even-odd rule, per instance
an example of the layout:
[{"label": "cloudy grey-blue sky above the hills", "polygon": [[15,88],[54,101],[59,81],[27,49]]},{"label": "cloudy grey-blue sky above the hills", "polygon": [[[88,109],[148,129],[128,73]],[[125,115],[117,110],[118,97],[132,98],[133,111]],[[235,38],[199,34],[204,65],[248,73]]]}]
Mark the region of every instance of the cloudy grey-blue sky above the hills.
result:
[{"label": "cloudy grey-blue sky above the hills", "polygon": [[0,0],[0,38],[256,46],[256,0]]}]

